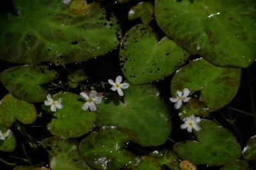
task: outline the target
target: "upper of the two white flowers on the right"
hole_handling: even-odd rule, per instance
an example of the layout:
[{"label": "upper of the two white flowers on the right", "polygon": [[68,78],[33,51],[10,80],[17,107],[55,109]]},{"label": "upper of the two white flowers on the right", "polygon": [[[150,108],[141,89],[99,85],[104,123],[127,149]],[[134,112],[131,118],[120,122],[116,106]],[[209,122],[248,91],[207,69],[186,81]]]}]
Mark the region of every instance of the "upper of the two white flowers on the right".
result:
[{"label": "upper of the two white flowers on the right", "polygon": [[188,97],[190,94],[190,91],[188,89],[184,89],[183,90],[183,94],[182,92],[180,92],[179,90],[176,92],[175,94],[175,98],[174,97],[170,97],[170,101],[174,104],[174,108],[175,109],[180,109],[182,106],[182,102],[188,102],[189,99],[191,99],[191,97]]}]

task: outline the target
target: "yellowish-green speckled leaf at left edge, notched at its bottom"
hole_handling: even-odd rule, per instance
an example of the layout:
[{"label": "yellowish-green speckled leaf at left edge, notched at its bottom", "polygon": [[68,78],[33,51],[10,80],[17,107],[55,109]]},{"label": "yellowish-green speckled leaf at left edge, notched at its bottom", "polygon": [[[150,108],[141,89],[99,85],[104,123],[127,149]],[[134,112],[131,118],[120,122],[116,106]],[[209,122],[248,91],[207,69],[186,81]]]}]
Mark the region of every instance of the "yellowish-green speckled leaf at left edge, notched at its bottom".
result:
[{"label": "yellowish-green speckled leaf at left edge, notched at its bottom", "polygon": [[0,124],[11,127],[15,120],[22,124],[32,124],[36,120],[36,108],[32,103],[6,94],[0,101]]}]

